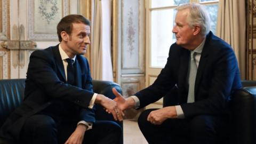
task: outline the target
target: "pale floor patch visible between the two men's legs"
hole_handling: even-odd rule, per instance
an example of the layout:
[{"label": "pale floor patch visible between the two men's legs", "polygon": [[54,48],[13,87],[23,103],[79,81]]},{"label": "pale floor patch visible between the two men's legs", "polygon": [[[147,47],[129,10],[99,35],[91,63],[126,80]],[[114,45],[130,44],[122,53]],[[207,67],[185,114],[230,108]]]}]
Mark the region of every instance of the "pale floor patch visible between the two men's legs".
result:
[{"label": "pale floor patch visible between the two men's legs", "polygon": [[123,124],[124,144],[148,144],[136,121],[125,119]]}]

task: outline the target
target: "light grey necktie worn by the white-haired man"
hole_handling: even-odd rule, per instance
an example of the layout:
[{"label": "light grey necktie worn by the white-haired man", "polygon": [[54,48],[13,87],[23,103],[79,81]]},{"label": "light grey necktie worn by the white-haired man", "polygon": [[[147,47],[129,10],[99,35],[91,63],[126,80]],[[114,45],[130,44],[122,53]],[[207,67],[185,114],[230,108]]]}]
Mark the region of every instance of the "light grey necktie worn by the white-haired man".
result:
[{"label": "light grey necktie worn by the white-haired man", "polygon": [[189,80],[188,80],[188,103],[195,102],[195,82],[197,66],[195,61],[196,52],[190,51],[190,68],[189,68]]}]

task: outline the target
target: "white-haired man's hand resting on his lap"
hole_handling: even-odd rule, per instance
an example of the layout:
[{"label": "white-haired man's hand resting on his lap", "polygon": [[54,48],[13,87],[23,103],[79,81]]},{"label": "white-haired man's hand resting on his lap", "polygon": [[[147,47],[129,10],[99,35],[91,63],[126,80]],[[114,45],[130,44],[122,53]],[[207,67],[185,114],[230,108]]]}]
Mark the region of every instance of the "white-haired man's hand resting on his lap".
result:
[{"label": "white-haired man's hand resting on his lap", "polygon": [[167,118],[177,118],[177,111],[175,106],[164,107],[151,111],[147,120],[151,124],[161,125]]}]

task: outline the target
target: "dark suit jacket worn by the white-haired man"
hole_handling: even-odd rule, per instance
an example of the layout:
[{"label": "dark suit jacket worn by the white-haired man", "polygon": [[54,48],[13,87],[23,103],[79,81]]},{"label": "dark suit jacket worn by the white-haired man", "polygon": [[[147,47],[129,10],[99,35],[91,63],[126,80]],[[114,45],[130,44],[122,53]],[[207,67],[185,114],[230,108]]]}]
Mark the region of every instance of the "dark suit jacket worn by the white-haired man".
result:
[{"label": "dark suit jacket worn by the white-haired man", "polygon": [[171,97],[181,105],[185,117],[227,112],[230,95],[242,87],[237,60],[230,45],[211,31],[206,36],[197,69],[194,103],[187,103],[189,58],[189,50],[172,44],[167,63],[156,81],[135,94],[140,100],[140,108],[162,98],[177,85],[178,95]]}]

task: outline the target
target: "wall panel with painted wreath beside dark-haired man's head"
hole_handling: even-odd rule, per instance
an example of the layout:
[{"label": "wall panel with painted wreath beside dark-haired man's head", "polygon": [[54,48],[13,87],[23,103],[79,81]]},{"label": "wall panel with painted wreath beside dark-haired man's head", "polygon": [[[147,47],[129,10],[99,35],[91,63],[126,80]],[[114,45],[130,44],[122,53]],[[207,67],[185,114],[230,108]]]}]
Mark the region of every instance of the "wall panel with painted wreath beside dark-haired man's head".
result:
[{"label": "wall panel with painted wreath beside dark-haired man's head", "polygon": [[56,26],[68,14],[68,4],[68,0],[29,0],[28,38],[36,41],[58,41]]}]

